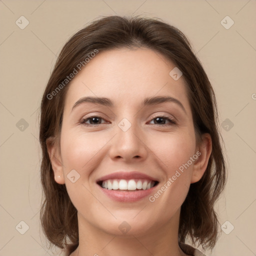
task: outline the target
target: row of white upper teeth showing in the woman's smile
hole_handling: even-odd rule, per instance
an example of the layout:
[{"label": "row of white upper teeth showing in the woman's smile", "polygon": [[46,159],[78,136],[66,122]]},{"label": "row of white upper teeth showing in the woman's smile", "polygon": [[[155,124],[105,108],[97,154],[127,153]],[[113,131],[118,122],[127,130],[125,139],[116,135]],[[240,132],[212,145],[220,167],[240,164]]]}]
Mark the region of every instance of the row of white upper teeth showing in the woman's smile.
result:
[{"label": "row of white upper teeth showing in the woman's smile", "polygon": [[154,185],[154,181],[152,180],[134,180],[134,179],[108,179],[102,182],[102,187],[106,189],[121,189],[121,190],[136,190],[137,189],[149,189]]}]

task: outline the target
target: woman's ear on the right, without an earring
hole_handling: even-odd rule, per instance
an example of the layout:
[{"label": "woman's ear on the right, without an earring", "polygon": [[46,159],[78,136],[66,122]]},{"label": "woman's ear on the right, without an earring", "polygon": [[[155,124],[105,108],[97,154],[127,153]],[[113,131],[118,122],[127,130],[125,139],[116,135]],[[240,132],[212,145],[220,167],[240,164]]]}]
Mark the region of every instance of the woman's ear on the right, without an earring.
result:
[{"label": "woman's ear on the right, without an earring", "polygon": [[208,160],[211,154],[212,145],[211,145],[211,137],[209,133],[202,134],[202,141],[199,145],[198,150],[195,155],[198,158],[194,161],[193,164],[193,173],[191,176],[190,183],[195,183],[202,177],[204,171],[207,168]]}]

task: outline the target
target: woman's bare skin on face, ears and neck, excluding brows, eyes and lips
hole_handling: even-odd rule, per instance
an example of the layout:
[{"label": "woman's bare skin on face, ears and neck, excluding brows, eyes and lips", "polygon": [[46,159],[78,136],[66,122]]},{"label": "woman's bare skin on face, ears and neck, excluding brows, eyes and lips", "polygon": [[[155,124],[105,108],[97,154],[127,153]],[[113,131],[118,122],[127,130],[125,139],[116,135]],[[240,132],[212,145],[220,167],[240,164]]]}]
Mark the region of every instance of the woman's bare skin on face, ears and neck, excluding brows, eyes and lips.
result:
[{"label": "woman's bare skin on face, ears and neck, excluding brows, eyes and lips", "polygon": [[[196,146],[185,81],[169,75],[174,67],[148,48],[107,50],[96,54],[68,85],[60,150],[51,138],[47,148],[55,181],[66,185],[77,209],[79,246],[71,256],[187,255],[178,246],[180,206],[190,183],[207,167],[211,138],[203,134]],[[175,102],[142,107],[144,98],[166,95],[179,100],[185,111]],[[113,106],[84,102],[72,109],[85,96],[109,98]],[[157,122],[162,115],[176,123],[164,118]],[[101,119],[82,123],[95,116]],[[131,124],[127,131],[118,126],[123,118]],[[118,170],[139,171],[157,178],[160,189],[197,151],[200,156],[154,202],[147,196],[115,201],[95,182]],[[72,169],[80,175],[74,183],[67,177]],[[126,233],[118,228],[123,221],[130,226]]]}]

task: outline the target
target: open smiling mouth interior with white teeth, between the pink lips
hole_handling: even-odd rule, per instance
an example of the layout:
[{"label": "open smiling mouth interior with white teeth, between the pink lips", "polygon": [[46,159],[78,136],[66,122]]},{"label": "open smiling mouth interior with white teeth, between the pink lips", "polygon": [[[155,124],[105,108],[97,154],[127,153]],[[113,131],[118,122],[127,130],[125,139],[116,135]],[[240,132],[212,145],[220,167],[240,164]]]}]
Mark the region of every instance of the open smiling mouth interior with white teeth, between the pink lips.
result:
[{"label": "open smiling mouth interior with white teeth, between the pink lips", "polygon": [[158,184],[158,181],[150,179],[107,179],[97,182],[102,188],[117,191],[147,190]]}]

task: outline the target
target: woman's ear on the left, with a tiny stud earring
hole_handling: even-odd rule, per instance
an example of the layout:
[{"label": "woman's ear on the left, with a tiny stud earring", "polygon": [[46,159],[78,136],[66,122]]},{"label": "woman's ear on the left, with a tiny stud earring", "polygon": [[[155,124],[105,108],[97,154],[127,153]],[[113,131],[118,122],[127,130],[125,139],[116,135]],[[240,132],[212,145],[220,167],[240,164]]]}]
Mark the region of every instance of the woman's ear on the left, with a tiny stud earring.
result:
[{"label": "woman's ear on the left, with a tiny stud earring", "polygon": [[46,139],[47,151],[49,154],[51,167],[54,172],[54,179],[59,184],[64,184],[64,172],[61,156],[56,143],[56,138],[51,136]]}]

